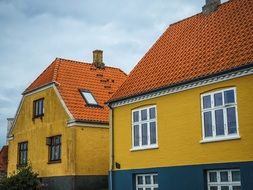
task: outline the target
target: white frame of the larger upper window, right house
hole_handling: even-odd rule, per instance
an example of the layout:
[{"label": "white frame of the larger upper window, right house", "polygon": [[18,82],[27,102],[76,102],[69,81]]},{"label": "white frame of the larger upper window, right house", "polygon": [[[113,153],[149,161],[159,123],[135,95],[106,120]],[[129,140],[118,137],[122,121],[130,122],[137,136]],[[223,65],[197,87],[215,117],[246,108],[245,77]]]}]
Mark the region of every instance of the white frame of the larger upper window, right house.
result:
[{"label": "white frame of the larger upper window, right house", "polygon": [[[233,90],[234,91],[234,99],[235,102],[231,103],[231,104],[227,104],[225,105],[224,103],[224,95],[223,95],[223,104],[222,106],[219,107],[215,107],[214,106],[214,94],[217,93],[224,93],[224,91],[228,91],[228,90]],[[203,105],[203,97],[204,96],[211,96],[211,108],[207,108],[204,109],[204,105]],[[235,117],[236,117],[236,131],[237,133],[235,134],[228,134],[228,126],[227,126],[227,112],[226,112],[226,108],[229,107],[235,107]],[[224,110],[224,135],[216,135],[216,124],[215,124],[215,116],[214,116],[214,112],[215,110],[218,109],[223,109]],[[204,125],[204,113],[206,111],[211,111],[212,113],[212,135],[211,137],[205,137],[205,125]],[[213,91],[213,92],[209,92],[209,93],[205,93],[201,95],[201,117],[202,117],[202,140],[200,141],[200,143],[205,143],[205,142],[212,142],[212,141],[224,141],[224,140],[232,140],[232,139],[240,139],[240,134],[239,134],[239,121],[238,121],[238,111],[237,111],[237,93],[236,93],[236,88],[232,87],[232,88],[225,88],[222,90],[217,90],[217,91]]]}]

